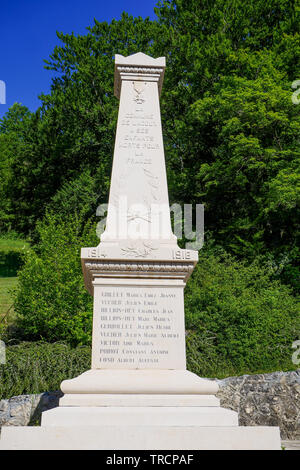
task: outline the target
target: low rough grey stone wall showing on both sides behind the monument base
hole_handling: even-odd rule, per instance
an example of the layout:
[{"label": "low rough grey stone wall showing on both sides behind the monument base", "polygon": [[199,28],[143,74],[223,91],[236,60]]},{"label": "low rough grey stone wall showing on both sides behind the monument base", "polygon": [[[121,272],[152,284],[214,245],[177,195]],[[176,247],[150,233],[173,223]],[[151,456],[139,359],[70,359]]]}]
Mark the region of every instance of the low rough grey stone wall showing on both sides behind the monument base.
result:
[{"label": "low rough grey stone wall showing on both sides behind the monument base", "polygon": [[[279,426],[282,439],[300,439],[300,369],[217,381],[221,406],[239,413],[241,426]],[[37,424],[62,393],[20,395],[0,401],[0,426]]]}]

